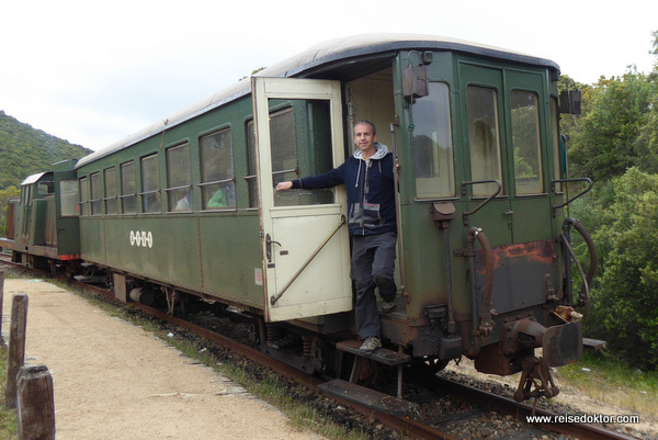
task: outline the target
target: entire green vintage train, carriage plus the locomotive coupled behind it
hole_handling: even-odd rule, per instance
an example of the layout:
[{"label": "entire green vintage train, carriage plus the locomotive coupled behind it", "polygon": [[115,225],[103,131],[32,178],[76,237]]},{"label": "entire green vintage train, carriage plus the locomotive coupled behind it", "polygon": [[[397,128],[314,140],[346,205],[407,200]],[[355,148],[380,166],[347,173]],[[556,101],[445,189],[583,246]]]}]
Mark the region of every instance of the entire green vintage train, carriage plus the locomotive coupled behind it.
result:
[{"label": "entire green vintage train, carriage plus the locomotive coupled behind it", "polygon": [[581,356],[576,308],[595,268],[565,214],[582,194],[570,183],[591,181],[565,177],[558,121],[579,97],[558,94],[558,79],[551,60],[439,36],[321,43],[29,177],[0,246],[109,280],[124,302],[232,306],[270,356],[340,372],[337,354],[359,358],[344,189],[274,187],[342,163],[353,123],[368,120],[396,158],[399,292],[381,316],[385,347],[365,357],[438,371],[465,356],[480,372],[521,372],[519,400],[551,397],[549,366]]}]

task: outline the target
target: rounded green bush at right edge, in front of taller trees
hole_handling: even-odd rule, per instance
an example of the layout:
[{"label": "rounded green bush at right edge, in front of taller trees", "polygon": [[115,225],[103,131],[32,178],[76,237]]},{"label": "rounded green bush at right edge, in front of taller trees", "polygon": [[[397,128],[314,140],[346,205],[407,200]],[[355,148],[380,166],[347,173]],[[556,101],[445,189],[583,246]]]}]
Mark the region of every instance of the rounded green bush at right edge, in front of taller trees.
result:
[{"label": "rounded green bush at right edge, in front of taller trees", "polygon": [[600,255],[586,332],[643,370],[658,368],[657,205],[658,176],[631,168],[574,206],[581,221],[595,218],[587,223]]}]

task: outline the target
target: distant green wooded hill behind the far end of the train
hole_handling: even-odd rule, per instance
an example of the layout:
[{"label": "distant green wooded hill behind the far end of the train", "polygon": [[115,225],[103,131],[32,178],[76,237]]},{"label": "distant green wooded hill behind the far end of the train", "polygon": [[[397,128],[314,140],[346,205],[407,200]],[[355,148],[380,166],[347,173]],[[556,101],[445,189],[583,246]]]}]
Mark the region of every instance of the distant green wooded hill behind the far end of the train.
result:
[{"label": "distant green wooded hill behind the far end of the train", "polygon": [[90,153],[0,111],[0,190],[19,187],[26,176],[45,171],[55,162],[79,159]]}]

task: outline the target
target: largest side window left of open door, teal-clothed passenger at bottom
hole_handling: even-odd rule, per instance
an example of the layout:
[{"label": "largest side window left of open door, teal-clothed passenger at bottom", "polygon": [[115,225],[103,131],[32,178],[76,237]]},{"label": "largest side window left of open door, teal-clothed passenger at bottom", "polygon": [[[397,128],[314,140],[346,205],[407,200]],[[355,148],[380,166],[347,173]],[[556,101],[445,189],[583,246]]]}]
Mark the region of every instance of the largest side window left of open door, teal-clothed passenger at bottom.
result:
[{"label": "largest side window left of open door, teal-clothed passenger at bottom", "polygon": [[230,129],[200,139],[201,196],[204,210],[236,206],[236,180],[230,148]]}]

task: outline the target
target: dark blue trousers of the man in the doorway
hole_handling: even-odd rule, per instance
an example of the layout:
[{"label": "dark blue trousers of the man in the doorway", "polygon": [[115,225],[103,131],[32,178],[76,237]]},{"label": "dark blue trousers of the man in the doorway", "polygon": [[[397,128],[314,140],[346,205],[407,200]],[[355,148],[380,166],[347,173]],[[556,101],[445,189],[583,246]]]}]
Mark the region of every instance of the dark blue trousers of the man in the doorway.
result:
[{"label": "dark blue trousers of the man in the doorway", "polygon": [[379,336],[379,312],[375,287],[382,300],[395,300],[395,246],[397,234],[385,233],[352,236],[352,280],[356,286],[354,314],[356,331],[361,338]]}]

